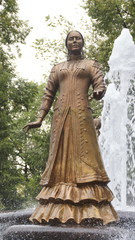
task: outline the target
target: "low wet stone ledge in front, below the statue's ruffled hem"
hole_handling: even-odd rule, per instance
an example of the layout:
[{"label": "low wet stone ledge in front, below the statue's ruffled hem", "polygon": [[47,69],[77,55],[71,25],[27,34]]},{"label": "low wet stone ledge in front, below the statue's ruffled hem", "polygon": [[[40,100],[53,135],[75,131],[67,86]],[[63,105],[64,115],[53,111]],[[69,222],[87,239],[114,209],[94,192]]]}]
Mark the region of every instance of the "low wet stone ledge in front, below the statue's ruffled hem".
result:
[{"label": "low wet stone ledge in front, below the statue's ruffled hem", "polygon": [[56,227],[14,225],[9,227],[3,240],[116,240],[135,239],[135,232],[116,227]]}]

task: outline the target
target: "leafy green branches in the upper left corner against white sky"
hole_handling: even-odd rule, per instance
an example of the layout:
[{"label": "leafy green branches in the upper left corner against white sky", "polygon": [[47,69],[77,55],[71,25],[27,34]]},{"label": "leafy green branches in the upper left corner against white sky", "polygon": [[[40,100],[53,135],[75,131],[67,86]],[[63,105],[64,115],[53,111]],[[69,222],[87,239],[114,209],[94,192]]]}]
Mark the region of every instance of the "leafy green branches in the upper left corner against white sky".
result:
[{"label": "leafy green branches in the upper left corner against white sky", "polygon": [[0,1],[0,43],[4,45],[24,43],[29,33],[27,22],[18,18],[16,0]]}]

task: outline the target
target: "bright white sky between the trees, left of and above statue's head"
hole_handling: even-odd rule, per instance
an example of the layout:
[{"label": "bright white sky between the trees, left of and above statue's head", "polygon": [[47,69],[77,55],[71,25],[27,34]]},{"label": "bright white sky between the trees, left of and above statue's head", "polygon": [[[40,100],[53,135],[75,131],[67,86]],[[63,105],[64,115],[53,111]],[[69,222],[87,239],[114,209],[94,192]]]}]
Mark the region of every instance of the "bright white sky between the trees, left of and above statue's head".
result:
[{"label": "bright white sky between the trees, left of and above statue's head", "polygon": [[[42,82],[44,63],[35,57],[36,51],[32,47],[35,39],[47,35],[52,38],[52,32],[48,31],[44,18],[47,15],[63,15],[69,21],[77,24],[81,17],[87,18],[84,9],[81,8],[83,0],[17,0],[19,5],[19,17],[28,20],[33,30],[26,38],[26,45],[21,45],[22,57],[17,58],[17,72],[23,78]],[[79,29],[78,29],[79,30]],[[53,36],[54,37],[54,36]]]}]

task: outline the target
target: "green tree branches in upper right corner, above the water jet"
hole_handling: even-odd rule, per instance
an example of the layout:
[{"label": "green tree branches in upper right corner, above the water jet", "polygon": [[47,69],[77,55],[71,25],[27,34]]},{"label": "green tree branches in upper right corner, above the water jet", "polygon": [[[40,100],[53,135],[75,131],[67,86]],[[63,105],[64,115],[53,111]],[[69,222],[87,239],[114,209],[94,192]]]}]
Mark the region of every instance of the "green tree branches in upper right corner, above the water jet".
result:
[{"label": "green tree branches in upper right corner, above the water jet", "polygon": [[108,70],[114,40],[123,28],[129,28],[135,39],[135,1],[134,0],[84,0],[84,8],[91,18],[97,35],[93,54]]}]

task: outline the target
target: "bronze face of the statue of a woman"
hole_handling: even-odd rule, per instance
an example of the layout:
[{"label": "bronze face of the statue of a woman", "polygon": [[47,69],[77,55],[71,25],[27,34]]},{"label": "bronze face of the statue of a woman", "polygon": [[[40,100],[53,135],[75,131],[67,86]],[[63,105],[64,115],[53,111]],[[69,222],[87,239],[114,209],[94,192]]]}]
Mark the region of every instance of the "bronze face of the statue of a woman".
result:
[{"label": "bronze face of the statue of a woman", "polygon": [[67,49],[71,53],[80,53],[83,48],[83,39],[79,32],[73,31],[67,39]]}]

